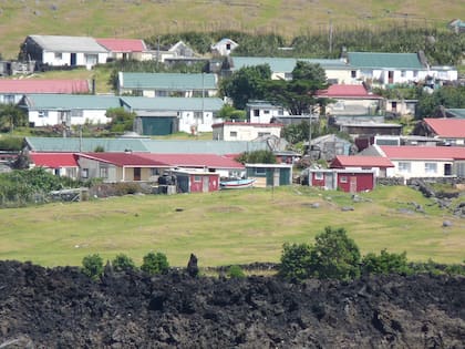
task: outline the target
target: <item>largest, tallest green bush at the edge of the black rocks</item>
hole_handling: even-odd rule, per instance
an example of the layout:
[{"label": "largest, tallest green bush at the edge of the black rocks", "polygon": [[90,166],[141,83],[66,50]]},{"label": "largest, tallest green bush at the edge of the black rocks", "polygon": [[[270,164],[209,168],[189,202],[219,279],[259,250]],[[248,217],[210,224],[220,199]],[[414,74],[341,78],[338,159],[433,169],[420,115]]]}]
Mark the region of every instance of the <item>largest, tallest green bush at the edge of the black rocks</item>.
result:
[{"label": "largest, tallest green bush at the edge of the black rocks", "polygon": [[360,276],[360,250],[344,228],[326,227],[316,237],[310,274],[322,279],[353,279]]}]

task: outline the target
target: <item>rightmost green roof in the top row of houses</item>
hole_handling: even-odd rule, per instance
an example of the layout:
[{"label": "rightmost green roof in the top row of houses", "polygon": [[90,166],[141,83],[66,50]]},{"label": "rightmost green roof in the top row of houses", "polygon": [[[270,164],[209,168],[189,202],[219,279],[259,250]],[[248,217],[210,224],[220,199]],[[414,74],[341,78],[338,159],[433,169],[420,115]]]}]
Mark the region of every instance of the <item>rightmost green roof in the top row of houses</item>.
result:
[{"label": "rightmost green roof in the top row of houses", "polygon": [[426,69],[416,53],[348,52],[348,58],[350,65],[360,69]]}]

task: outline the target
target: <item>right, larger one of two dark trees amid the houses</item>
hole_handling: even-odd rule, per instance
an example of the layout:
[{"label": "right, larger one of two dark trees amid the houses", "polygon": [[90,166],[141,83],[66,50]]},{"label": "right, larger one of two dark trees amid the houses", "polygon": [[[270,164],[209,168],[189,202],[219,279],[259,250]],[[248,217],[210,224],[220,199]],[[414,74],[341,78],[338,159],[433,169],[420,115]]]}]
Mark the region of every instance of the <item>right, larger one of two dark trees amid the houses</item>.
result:
[{"label": "right, larger one of two dark trees amid the houses", "polygon": [[318,90],[328,86],[324,69],[320,64],[298,61],[292,70],[292,80],[270,80],[265,83],[266,97],[282,105],[291,115],[304,115],[313,106],[324,104],[316,96]]}]

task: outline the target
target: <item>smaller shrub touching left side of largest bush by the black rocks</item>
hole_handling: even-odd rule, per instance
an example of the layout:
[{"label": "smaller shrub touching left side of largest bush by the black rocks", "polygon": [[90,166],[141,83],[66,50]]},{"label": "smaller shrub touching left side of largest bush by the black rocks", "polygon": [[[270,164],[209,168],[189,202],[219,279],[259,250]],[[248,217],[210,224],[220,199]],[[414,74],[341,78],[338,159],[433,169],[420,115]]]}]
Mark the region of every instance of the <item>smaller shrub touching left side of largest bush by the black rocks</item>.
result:
[{"label": "smaller shrub touching left side of largest bush by the black rocks", "polygon": [[308,244],[282,245],[279,275],[291,281],[301,281],[309,277],[311,246]]}]

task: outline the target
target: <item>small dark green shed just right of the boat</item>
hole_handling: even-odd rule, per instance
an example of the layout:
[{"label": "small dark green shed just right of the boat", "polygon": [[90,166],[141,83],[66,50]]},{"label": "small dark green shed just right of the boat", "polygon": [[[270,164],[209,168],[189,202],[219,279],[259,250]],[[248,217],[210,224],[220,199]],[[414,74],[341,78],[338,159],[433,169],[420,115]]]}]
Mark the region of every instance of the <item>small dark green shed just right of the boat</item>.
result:
[{"label": "small dark green shed just right of the boat", "polygon": [[246,164],[246,173],[256,179],[255,187],[292,184],[292,164]]}]

